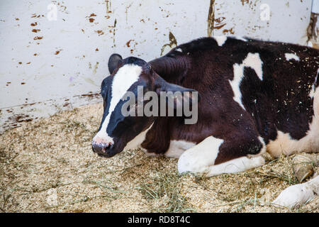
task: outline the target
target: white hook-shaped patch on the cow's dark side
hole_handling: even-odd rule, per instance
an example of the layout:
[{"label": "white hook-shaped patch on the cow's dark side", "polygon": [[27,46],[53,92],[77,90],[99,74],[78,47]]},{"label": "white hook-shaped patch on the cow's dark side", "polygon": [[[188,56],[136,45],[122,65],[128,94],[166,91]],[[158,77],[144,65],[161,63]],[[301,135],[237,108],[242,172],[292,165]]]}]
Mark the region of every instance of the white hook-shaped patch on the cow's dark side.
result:
[{"label": "white hook-shaped patch on the cow's dark side", "polygon": [[259,53],[248,53],[245,60],[242,61],[242,64],[235,64],[233,65],[234,69],[234,78],[230,81],[230,86],[234,92],[234,100],[237,101],[242,109],[245,109],[244,105],[242,104],[242,93],[240,92],[240,83],[242,82],[242,78],[244,77],[244,68],[251,67],[254,72],[256,72],[257,76],[260,80],[263,79],[262,75],[262,60],[259,57]]}]

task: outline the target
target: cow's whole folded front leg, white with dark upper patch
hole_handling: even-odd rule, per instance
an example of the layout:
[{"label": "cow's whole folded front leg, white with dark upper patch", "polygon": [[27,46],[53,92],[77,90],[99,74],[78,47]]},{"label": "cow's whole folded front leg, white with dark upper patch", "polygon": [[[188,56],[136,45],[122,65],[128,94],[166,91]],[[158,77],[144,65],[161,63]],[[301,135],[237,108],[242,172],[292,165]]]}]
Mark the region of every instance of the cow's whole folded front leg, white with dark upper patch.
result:
[{"label": "cow's whole folded front leg, white with dark upper patch", "polygon": [[[186,150],[178,161],[179,173],[193,172],[197,175],[211,177],[223,173],[235,173],[249,170],[264,165],[265,145],[258,138],[253,141],[245,141],[247,152],[240,153],[240,143],[224,141],[213,136],[198,143],[193,148]],[[245,144],[241,142],[242,144]],[[237,146],[237,147],[236,147]],[[250,149],[257,149],[252,152]],[[249,155],[249,153],[254,154]]]}]

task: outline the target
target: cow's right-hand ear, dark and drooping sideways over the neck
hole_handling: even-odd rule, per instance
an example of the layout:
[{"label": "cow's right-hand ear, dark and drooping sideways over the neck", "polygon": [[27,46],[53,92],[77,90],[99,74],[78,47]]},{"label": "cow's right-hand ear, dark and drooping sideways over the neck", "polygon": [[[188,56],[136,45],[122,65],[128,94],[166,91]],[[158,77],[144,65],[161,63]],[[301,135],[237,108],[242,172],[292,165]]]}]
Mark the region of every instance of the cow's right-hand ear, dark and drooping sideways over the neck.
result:
[{"label": "cow's right-hand ear, dark and drooping sideways over the neck", "polygon": [[182,108],[183,104],[197,104],[200,99],[200,96],[195,89],[171,84],[162,77],[157,77],[155,79],[155,92],[159,95],[159,99],[164,97],[166,101],[169,101],[169,99],[173,100],[174,109]]}]

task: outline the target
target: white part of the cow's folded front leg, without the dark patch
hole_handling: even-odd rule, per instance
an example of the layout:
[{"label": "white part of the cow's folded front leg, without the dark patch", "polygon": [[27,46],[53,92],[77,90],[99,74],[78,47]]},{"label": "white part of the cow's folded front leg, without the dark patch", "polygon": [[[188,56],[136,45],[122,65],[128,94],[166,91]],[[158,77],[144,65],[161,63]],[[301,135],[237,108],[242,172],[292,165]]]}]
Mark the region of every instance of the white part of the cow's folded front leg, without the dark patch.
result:
[{"label": "white part of the cow's folded front leg, without the dark patch", "polygon": [[[228,147],[228,149],[234,148]],[[262,149],[263,147],[259,147],[260,151]],[[231,153],[228,153],[230,156],[227,161],[216,165],[216,160],[220,152],[227,154],[227,152],[225,152],[224,140],[209,136],[193,148],[186,150],[183,155],[179,157],[178,170],[180,173],[193,172],[197,175],[211,177],[223,173],[242,172],[264,165],[264,158],[260,155],[247,157],[247,155],[244,154],[242,157],[236,157]]]}]

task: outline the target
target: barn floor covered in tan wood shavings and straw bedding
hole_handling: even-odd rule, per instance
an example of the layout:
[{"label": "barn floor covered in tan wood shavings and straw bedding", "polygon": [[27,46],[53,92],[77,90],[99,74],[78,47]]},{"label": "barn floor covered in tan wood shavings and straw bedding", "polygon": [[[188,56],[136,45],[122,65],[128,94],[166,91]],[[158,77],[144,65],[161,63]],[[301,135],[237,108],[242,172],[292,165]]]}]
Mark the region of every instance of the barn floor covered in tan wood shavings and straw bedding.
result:
[{"label": "barn floor covered in tan wood shavings and straw bedding", "polygon": [[[91,151],[102,105],[83,106],[0,135],[2,212],[318,212],[269,204],[296,184],[291,157],[235,175],[178,175],[177,160]],[[319,154],[313,154],[317,159]],[[318,172],[318,168],[317,168]]]}]

